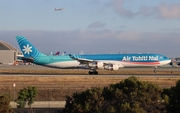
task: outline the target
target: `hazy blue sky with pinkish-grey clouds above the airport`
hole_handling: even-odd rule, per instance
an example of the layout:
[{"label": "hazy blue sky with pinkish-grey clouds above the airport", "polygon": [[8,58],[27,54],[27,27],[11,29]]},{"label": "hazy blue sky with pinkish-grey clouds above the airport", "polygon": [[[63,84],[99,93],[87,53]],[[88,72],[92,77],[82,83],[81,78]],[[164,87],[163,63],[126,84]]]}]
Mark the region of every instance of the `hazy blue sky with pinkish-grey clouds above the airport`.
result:
[{"label": "hazy blue sky with pinkish-grey clouds above the airport", "polygon": [[0,40],[17,48],[23,35],[43,53],[180,55],[179,0],[1,0],[0,15]]}]

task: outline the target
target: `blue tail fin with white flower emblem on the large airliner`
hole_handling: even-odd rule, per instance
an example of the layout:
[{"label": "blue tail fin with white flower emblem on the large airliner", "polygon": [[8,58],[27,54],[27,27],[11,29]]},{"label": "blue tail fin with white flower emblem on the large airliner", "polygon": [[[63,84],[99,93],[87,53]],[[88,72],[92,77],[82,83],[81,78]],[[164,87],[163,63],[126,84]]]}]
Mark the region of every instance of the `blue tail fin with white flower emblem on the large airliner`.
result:
[{"label": "blue tail fin with white flower emblem on the large airliner", "polygon": [[39,56],[46,56],[39,52],[24,36],[16,36],[16,40],[24,57],[37,60]]}]

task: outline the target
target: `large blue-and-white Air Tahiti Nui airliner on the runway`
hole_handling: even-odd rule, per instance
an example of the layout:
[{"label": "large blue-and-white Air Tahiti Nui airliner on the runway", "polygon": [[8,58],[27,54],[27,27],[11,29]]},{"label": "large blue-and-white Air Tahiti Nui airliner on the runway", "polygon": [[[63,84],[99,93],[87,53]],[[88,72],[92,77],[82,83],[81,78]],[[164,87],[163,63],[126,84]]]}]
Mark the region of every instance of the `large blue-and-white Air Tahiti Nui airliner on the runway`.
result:
[{"label": "large blue-and-white Air Tahiti Nui airliner on the runway", "polygon": [[98,69],[119,70],[120,68],[141,66],[157,68],[157,66],[167,65],[171,62],[164,55],[151,53],[48,56],[38,51],[24,36],[16,36],[16,40],[24,55],[19,58],[21,60],[55,68],[88,68],[89,74],[98,74]]}]

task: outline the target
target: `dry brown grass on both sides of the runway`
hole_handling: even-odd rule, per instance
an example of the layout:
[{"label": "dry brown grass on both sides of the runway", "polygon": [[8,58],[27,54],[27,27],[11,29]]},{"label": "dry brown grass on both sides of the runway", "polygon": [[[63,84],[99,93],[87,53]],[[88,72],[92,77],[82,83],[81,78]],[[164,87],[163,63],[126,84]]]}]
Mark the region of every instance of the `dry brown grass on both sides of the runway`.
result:
[{"label": "dry brown grass on both sides of the runway", "polygon": [[[176,81],[180,79],[179,76],[173,76],[173,74],[180,74],[180,71],[171,72],[168,70],[160,70],[157,73],[153,73],[152,70],[139,69],[120,71],[99,70],[100,75],[93,76],[87,75],[87,72],[88,70],[59,70],[36,67],[1,68],[0,75],[13,73],[15,76],[0,76],[0,94],[8,94],[11,100],[13,100],[13,83],[16,83],[16,96],[17,92],[24,87],[37,86],[39,93],[36,100],[65,100],[66,95],[71,95],[74,92],[80,92],[91,87],[104,87],[109,84],[115,84],[129,75],[142,75],[137,76],[137,78],[142,81],[158,84],[162,88],[174,86]],[[21,74],[25,75],[17,76]],[[28,76],[28,74],[36,75]]]}]

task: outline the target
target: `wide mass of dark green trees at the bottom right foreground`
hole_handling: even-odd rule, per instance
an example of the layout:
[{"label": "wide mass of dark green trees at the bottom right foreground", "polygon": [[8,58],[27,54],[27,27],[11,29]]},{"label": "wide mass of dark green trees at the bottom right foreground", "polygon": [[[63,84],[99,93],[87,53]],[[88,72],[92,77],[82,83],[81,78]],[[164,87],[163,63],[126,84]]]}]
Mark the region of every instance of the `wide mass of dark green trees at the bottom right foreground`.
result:
[{"label": "wide mass of dark green trees at the bottom right foreground", "polygon": [[180,113],[180,80],[162,89],[131,76],[67,96],[63,113]]}]

